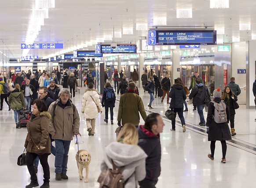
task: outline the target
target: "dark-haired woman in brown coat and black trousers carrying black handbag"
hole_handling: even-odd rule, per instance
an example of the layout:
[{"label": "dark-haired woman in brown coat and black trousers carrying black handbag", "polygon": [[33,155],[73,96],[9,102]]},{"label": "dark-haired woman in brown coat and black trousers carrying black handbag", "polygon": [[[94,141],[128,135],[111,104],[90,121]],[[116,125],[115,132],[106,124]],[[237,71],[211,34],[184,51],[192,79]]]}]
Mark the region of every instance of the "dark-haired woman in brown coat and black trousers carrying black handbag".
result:
[{"label": "dark-haired woman in brown coat and black trousers carrying black handbag", "polygon": [[28,134],[25,141],[27,150],[26,163],[30,174],[31,183],[26,188],[38,186],[37,174],[33,161],[38,156],[44,171],[44,184],[40,188],[49,188],[50,170],[48,155],[51,154],[51,140],[49,137],[49,119],[51,115],[47,112],[47,106],[43,100],[37,99],[33,104],[33,115],[27,123]]}]

